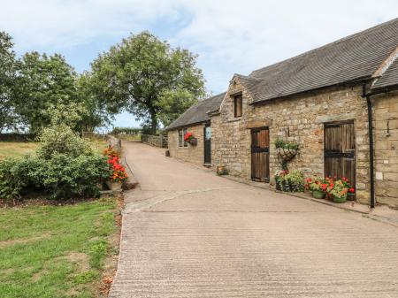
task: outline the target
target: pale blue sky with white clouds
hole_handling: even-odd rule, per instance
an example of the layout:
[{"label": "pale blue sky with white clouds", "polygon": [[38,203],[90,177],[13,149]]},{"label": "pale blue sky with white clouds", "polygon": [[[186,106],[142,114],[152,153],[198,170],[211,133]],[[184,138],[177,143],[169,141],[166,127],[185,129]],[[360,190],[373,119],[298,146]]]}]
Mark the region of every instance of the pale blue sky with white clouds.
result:
[{"label": "pale blue sky with white clouds", "polygon": [[[0,30],[21,55],[60,53],[78,72],[130,33],[149,30],[198,55],[208,92],[233,73],[294,57],[398,17],[396,0],[0,0]],[[114,126],[139,126],[122,113]]]}]

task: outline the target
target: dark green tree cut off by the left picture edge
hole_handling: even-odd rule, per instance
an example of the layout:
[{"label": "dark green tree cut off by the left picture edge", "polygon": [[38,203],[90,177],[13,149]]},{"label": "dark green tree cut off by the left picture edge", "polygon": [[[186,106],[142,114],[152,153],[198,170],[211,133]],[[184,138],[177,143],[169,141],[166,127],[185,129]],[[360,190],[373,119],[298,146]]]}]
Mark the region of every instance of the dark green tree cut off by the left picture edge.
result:
[{"label": "dark green tree cut off by the left picture edge", "polygon": [[11,36],[0,31],[0,133],[16,125],[12,91],[15,81],[15,53]]}]

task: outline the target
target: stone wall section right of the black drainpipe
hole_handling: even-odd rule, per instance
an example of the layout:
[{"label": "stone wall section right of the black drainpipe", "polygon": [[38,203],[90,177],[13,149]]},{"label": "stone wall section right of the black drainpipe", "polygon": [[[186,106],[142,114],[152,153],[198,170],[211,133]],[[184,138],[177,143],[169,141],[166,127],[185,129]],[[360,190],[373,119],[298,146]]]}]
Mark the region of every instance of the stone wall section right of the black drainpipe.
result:
[{"label": "stone wall section right of the black drainpipe", "polygon": [[398,92],[371,98],[376,201],[398,208]]}]

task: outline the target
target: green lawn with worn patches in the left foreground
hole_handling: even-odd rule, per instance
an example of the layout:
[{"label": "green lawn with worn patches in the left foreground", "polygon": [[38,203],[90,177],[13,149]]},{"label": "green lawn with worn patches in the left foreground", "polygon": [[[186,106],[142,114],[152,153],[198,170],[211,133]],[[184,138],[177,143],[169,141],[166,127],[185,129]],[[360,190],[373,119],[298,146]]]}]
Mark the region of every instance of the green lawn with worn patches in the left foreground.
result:
[{"label": "green lawn with worn patches in the left foreground", "polygon": [[96,297],[116,202],[0,210],[0,297]]}]

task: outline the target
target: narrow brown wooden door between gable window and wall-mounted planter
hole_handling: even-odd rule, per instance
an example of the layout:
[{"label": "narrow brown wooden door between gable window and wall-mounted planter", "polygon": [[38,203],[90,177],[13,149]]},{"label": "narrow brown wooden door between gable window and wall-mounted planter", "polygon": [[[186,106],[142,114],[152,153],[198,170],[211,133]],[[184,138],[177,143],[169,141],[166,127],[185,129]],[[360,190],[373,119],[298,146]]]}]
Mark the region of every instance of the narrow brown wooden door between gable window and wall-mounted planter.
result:
[{"label": "narrow brown wooden door between gable window and wall-mounted planter", "polygon": [[267,127],[251,130],[251,179],[270,181],[270,131]]}]

